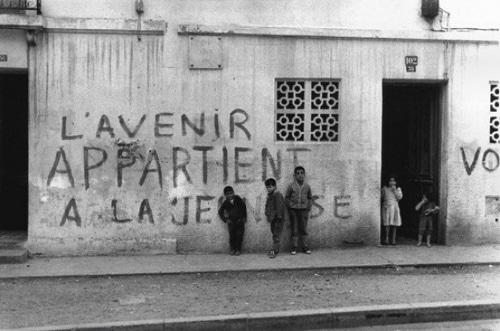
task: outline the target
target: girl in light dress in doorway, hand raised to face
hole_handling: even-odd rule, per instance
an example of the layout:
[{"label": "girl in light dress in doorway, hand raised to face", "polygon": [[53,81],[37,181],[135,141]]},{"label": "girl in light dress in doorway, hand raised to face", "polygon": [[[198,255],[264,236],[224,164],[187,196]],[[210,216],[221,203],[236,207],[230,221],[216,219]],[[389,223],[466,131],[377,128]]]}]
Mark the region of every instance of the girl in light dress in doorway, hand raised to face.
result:
[{"label": "girl in light dress in doorway, hand raised to face", "polygon": [[397,186],[395,175],[389,177],[388,186],[382,187],[382,223],[385,228],[384,245],[389,245],[389,233],[392,230],[390,244],[396,246],[396,230],[401,226],[399,200],[403,198],[401,188]]}]

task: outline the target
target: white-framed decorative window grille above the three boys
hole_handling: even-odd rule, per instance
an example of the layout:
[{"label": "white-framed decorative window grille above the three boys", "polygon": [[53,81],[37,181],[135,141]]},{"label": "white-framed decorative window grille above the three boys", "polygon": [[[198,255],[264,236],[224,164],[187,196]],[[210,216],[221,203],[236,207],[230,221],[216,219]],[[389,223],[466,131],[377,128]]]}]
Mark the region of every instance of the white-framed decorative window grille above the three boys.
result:
[{"label": "white-framed decorative window grille above the three boys", "polygon": [[337,142],[338,80],[276,80],[276,140]]}]

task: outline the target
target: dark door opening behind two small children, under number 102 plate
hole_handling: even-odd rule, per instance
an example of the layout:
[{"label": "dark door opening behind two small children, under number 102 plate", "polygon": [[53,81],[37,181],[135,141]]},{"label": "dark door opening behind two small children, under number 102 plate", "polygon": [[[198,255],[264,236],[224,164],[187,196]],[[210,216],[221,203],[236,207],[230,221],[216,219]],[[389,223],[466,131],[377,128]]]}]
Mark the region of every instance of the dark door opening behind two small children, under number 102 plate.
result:
[{"label": "dark door opening behind two small children, under number 102 plate", "polygon": [[[439,205],[440,96],[439,84],[383,85],[381,183],[387,185],[388,177],[396,174],[403,191],[400,243],[416,242],[415,205],[423,193],[432,192]],[[437,217],[433,223],[431,241],[442,242]]]}]

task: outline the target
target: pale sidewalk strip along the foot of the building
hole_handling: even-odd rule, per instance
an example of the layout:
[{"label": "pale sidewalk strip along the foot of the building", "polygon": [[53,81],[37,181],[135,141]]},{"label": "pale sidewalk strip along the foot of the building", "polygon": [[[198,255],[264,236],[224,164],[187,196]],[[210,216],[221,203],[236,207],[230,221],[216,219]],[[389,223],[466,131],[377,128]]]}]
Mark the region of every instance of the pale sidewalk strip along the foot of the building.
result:
[{"label": "pale sidewalk strip along the foot of the building", "polygon": [[35,257],[23,264],[0,264],[0,279],[471,264],[500,265],[500,245],[320,249],[312,255],[282,252],[275,259],[263,253]]}]

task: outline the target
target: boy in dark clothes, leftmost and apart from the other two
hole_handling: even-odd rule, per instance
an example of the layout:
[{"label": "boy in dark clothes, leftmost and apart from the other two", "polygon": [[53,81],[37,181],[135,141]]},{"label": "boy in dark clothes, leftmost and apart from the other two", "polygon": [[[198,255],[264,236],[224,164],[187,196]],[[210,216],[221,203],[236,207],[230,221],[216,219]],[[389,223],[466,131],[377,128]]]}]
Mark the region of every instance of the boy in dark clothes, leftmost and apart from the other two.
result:
[{"label": "boy in dark clothes, leftmost and apart from the other two", "polygon": [[231,255],[240,255],[247,220],[247,206],[240,196],[234,194],[231,186],[224,188],[224,197],[226,199],[219,208],[219,216],[224,223],[227,223]]}]

